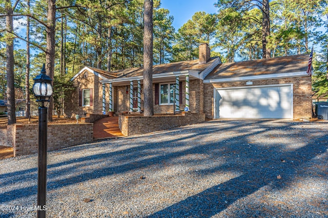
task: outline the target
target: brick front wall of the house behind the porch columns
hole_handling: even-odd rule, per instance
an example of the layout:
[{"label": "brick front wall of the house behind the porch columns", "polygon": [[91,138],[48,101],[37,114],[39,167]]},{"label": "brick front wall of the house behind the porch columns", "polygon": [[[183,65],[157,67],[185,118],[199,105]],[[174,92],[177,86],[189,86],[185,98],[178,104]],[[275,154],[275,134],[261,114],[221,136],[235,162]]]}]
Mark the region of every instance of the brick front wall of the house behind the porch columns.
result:
[{"label": "brick front wall of the house behind the porch columns", "polygon": [[[84,78],[82,72],[73,80],[74,86],[77,88],[70,98],[65,100],[65,117],[75,117],[79,114],[80,117],[85,117],[87,113],[101,114],[103,110],[103,87],[99,82],[99,78],[94,76],[91,72],[88,77]],[[175,82],[175,79],[171,82]],[[182,85],[182,101],[180,102],[180,110],[186,107],[186,81],[181,81]],[[106,110],[109,108],[109,84],[105,85],[106,93]],[[115,112],[130,110],[130,84],[124,86],[113,86],[113,106]],[[137,87],[137,81],[134,81],[134,87]],[[190,111],[195,113],[203,112],[203,83],[201,80],[191,80],[190,84]],[[79,90],[93,88],[93,106],[83,107],[79,106]],[[141,101],[144,101],[144,87],[141,84]],[[155,86],[153,85],[153,101],[155,102]],[[154,105],[154,113],[173,113],[173,105]]]}]

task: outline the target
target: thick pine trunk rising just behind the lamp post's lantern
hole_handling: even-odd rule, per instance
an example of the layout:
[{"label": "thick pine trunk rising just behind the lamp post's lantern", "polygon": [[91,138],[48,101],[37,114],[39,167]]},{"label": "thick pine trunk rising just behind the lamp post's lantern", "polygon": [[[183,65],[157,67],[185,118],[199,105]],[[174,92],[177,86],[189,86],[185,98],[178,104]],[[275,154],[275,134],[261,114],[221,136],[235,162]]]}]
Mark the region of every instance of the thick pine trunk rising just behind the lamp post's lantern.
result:
[{"label": "thick pine trunk rising just behind the lamp post's lantern", "polygon": [[[47,0],[48,16],[47,16],[47,47],[46,47],[46,72],[53,80],[55,67],[55,31],[56,31],[56,0]],[[53,81],[51,82],[53,85]],[[51,97],[48,107],[48,120],[52,121],[53,97]]]}]

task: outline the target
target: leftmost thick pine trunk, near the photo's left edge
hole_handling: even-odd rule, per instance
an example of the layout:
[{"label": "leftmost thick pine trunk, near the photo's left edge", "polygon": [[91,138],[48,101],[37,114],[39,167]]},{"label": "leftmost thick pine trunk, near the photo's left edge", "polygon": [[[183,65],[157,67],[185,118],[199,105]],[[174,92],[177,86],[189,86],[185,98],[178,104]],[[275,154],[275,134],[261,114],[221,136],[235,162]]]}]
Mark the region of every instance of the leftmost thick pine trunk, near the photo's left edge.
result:
[{"label": "leftmost thick pine trunk, near the photo's left edge", "polygon": [[13,28],[13,9],[11,1],[6,0],[6,55],[7,55],[7,111],[8,111],[8,125],[16,123],[15,114],[15,86],[14,86],[14,38],[11,34],[14,32]]}]

